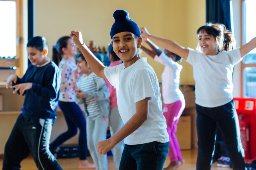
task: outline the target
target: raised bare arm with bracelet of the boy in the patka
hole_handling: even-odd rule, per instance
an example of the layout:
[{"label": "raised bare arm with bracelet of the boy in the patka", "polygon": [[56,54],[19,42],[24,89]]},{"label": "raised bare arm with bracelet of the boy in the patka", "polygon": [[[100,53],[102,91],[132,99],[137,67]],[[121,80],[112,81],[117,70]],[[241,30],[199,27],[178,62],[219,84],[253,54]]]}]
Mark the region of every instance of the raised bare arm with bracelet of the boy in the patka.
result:
[{"label": "raised bare arm with bracelet of the boy in the patka", "polygon": [[[83,37],[80,31],[71,31],[70,37],[76,45],[84,44]],[[82,46],[78,46],[78,48],[83,53],[84,58],[89,64],[92,71],[97,76],[106,79],[103,71],[105,66],[102,64],[102,62],[97,57],[95,57],[95,55],[90,51],[90,49],[85,44]]]}]

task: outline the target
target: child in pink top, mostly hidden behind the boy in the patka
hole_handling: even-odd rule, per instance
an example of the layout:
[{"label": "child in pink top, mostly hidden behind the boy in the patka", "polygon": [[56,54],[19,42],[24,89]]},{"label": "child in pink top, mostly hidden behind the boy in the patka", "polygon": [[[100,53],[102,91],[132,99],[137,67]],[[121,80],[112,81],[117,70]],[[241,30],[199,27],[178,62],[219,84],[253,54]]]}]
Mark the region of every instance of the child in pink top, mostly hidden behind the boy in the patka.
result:
[{"label": "child in pink top, mostly hidden behind the boy in the patka", "polygon": [[[108,45],[108,58],[111,61],[109,65],[110,67],[113,67],[122,63],[121,59],[118,58],[116,53],[113,51],[113,47],[111,43]],[[110,134],[112,136],[120,128],[124,126],[124,123],[118,112],[117,101],[116,101],[116,89],[109,83],[107,79],[104,79],[104,80],[109,89],[109,100],[110,100],[109,126],[110,126]],[[119,169],[123,149],[124,149],[124,140],[116,144],[116,146],[113,149],[111,149],[113,153],[114,164],[117,167],[117,169]]]}]

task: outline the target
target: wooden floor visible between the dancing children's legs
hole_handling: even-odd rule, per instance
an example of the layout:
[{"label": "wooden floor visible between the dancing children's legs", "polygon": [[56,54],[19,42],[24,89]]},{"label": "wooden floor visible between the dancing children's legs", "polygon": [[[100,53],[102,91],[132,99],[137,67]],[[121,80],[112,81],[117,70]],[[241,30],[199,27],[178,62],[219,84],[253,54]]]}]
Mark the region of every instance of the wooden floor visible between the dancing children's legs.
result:
[{"label": "wooden floor visible between the dancing children's legs", "polygon": [[[194,170],[196,169],[196,158],[197,158],[197,150],[182,150],[182,157],[185,159],[185,164],[183,164],[178,170]],[[58,159],[61,167],[64,170],[79,170],[77,168],[78,158],[65,158]],[[88,161],[92,163],[91,157],[88,157]],[[169,159],[167,158],[164,164],[166,167],[169,164]],[[2,167],[2,159],[0,159],[0,167]],[[1,168],[2,169],[2,168]],[[36,170],[35,163],[32,157],[29,157],[21,162],[21,170]],[[108,156],[108,170],[116,170],[115,165],[113,163],[113,157]],[[220,168],[216,166],[216,163],[212,165],[211,170],[231,170],[231,168]]]}]

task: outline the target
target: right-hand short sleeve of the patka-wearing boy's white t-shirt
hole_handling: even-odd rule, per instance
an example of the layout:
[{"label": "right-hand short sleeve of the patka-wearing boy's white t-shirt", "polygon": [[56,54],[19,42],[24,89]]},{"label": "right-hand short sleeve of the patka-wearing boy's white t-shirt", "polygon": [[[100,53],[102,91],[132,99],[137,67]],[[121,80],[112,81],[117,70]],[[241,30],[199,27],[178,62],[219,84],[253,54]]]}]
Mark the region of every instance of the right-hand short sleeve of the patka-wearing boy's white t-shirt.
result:
[{"label": "right-hand short sleeve of the patka-wearing boy's white t-shirt", "polygon": [[135,103],[146,97],[155,97],[154,81],[157,81],[155,76],[146,69],[135,73],[132,81],[132,93]]}]

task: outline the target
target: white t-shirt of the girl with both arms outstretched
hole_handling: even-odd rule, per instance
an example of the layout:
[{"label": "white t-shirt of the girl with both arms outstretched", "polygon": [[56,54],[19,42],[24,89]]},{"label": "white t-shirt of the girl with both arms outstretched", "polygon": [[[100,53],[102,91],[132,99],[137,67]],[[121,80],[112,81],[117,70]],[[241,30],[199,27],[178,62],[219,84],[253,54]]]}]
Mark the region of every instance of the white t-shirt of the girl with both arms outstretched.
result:
[{"label": "white t-shirt of the girl with both arms outstretched", "polygon": [[212,108],[230,102],[233,99],[233,68],[241,60],[239,48],[217,55],[189,48],[186,61],[193,66],[196,104]]}]

